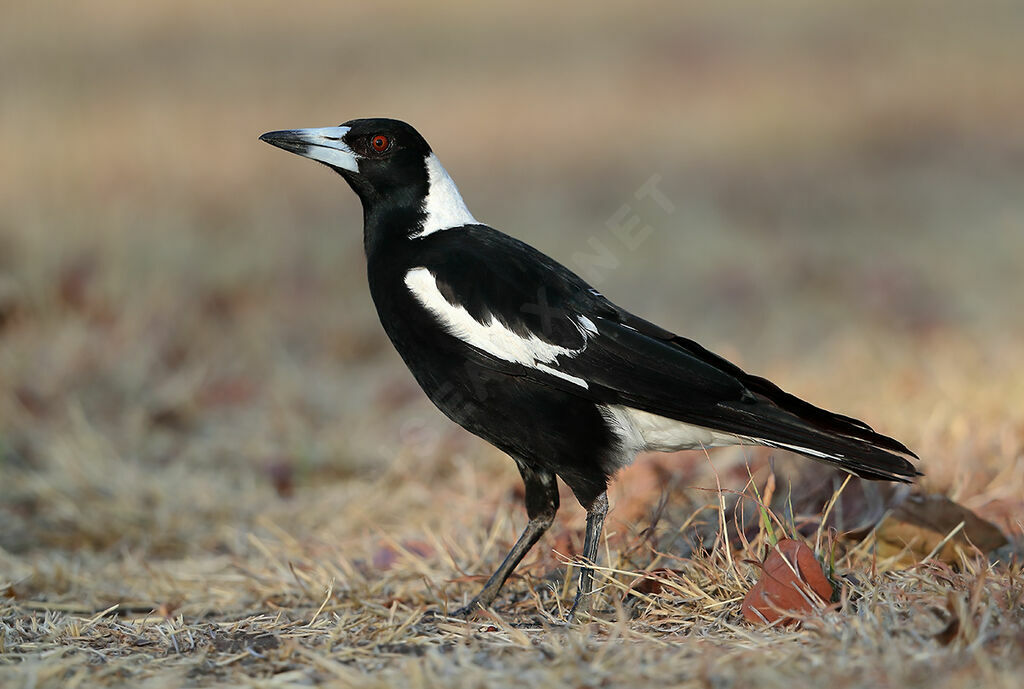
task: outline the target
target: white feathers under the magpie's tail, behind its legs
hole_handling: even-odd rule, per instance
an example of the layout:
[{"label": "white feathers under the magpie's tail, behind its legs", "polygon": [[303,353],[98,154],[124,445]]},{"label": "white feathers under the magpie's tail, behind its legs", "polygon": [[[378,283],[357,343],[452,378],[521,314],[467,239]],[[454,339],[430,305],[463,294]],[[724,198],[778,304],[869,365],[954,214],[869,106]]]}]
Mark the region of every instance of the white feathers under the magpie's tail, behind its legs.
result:
[{"label": "white feathers under the magpie's tail, behind its legs", "polygon": [[601,414],[611,430],[629,450],[628,462],[636,453],[653,450],[673,453],[679,449],[746,445],[752,440],[732,433],[722,433],[703,426],[694,426],[649,412],[642,412],[622,404],[602,404]]}]

